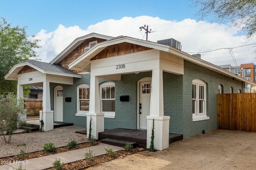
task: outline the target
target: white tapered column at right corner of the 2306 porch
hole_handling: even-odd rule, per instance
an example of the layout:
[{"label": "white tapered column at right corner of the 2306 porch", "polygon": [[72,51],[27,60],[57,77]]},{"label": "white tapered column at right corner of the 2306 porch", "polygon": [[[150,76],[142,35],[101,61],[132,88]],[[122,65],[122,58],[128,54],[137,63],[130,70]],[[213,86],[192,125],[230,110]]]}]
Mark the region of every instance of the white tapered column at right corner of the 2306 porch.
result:
[{"label": "white tapered column at right corner of the 2306 porch", "polygon": [[[43,131],[50,131],[53,129],[53,113],[51,110],[50,100],[50,82],[43,82],[43,110],[40,111],[40,120],[44,121]],[[41,125],[40,125],[41,128]]]}]

